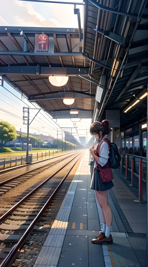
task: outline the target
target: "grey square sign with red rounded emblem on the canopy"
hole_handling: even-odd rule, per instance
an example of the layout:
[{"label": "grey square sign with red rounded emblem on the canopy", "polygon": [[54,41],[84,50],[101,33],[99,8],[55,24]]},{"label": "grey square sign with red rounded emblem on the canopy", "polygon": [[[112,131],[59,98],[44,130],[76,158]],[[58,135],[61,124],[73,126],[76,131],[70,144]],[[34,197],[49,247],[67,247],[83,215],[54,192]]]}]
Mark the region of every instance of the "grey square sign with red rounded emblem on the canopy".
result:
[{"label": "grey square sign with red rounded emblem on the canopy", "polygon": [[35,34],[35,53],[54,53],[54,39],[47,34]]}]

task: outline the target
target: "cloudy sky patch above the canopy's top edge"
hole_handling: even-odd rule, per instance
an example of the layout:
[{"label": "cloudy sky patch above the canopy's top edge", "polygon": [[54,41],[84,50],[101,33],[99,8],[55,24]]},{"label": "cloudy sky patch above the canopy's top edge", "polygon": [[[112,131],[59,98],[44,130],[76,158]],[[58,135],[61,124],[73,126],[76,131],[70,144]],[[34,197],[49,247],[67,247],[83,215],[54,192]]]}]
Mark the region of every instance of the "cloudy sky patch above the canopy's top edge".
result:
[{"label": "cloudy sky patch above the canopy's top edge", "polygon": [[[6,5],[7,2],[7,5]],[[67,27],[78,28],[74,5],[25,2],[20,0],[0,0],[0,26]],[[65,0],[65,2],[73,2]],[[76,2],[82,2],[77,0]],[[83,6],[80,9],[83,27]]]}]

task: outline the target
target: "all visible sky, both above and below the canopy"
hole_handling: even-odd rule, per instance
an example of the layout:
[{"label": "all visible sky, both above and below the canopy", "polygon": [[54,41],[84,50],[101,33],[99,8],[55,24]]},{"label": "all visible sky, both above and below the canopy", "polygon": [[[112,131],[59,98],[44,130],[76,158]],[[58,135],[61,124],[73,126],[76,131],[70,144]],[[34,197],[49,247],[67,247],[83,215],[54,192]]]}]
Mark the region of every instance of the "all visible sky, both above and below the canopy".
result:
[{"label": "all visible sky, both above and below the canopy", "polygon": [[[73,0],[67,2],[73,2]],[[82,1],[77,0],[76,2]],[[73,11],[74,5],[19,0],[7,0],[6,5],[5,1],[0,0],[0,7],[0,26],[68,26],[68,28],[78,28],[77,16],[74,15]],[[81,27],[83,27],[83,6],[77,5],[76,8],[80,8]],[[26,132],[27,125],[23,125],[22,121],[23,106],[35,108],[35,104],[28,102],[24,97],[22,99],[22,95],[6,82],[4,82],[4,87],[0,86],[0,119],[12,123],[18,131],[21,128],[22,132]],[[31,110],[30,118],[32,119],[35,114],[36,110]],[[40,134],[51,134],[51,136],[57,138],[57,129],[60,126],[74,127],[70,119],[57,119],[57,123],[55,122],[56,120],[52,120],[50,115],[41,110],[32,121],[29,132],[38,134],[38,131],[40,131]],[[81,119],[80,122],[76,122],[77,128],[72,129],[72,134],[79,140],[79,136],[86,136],[87,131],[87,141],[89,141],[91,138],[89,134],[90,124],[91,119]]]}]

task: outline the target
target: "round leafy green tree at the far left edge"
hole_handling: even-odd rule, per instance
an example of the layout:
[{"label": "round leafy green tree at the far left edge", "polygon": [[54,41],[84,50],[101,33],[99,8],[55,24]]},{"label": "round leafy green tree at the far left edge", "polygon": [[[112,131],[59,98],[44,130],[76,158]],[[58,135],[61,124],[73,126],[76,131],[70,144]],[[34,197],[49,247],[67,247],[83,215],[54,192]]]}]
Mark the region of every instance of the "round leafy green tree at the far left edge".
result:
[{"label": "round leafy green tree at the far left edge", "polygon": [[9,141],[17,138],[18,134],[15,127],[7,121],[0,121],[0,147],[4,147]]}]

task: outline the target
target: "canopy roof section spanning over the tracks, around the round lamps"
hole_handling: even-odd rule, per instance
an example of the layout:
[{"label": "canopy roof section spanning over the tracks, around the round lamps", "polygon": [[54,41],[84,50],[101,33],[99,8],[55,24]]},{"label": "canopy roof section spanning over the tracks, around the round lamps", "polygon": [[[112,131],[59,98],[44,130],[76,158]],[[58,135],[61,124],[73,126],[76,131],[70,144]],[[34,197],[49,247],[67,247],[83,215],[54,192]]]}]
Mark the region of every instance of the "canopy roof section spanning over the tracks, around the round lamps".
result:
[{"label": "canopy roof section spanning over the tracks, around the round lamps", "polygon": [[[38,50],[40,34],[49,37],[46,52]],[[51,115],[55,110],[77,108],[92,117],[98,81],[90,88],[90,61],[82,56],[82,39],[74,28],[0,26],[0,75]],[[49,75],[69,76],[69,80],[56,87]],[[66,92],[75,98],[71,106],[63,103]]]}]

